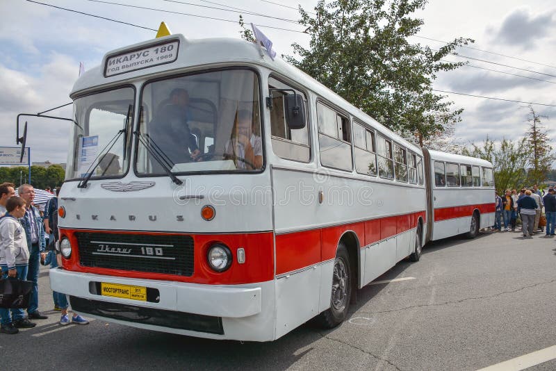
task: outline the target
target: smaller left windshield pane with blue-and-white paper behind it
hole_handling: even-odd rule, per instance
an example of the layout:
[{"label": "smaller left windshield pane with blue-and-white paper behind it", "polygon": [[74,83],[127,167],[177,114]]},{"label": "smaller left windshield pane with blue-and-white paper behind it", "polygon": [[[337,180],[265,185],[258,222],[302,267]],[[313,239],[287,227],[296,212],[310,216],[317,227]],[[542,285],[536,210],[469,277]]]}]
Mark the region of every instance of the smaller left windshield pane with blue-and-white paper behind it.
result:
[{"label": "smaller left windshield pane with blue-and-white paper behind it", "polygon": [[127,172],[126,152],[133,127],[133,88],[120,88],[74,101],[72,148],[66,178],[121,177]]}]

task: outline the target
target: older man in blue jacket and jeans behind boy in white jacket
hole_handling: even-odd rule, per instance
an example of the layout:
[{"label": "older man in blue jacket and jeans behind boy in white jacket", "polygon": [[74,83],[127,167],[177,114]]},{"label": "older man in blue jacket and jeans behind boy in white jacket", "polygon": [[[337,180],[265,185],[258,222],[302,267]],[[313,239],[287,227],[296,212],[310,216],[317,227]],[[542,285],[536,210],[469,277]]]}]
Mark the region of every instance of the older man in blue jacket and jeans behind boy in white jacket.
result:
[{"label": "older man in blue jacket and jeans behind boy in white jacket", "polygon": [[35,188],[31,184],[22,184],[18,188],[19,197],[26,202],[25,216],[20,220],[27,235],[27,246],[29,249],[29,269],[27,272],[27,281],[33,281],[33,292],[31,292],[31,299],[29,299],[29,307],[27,314],[29,319],[32,320],[46,320],[48,317],[38,311],[39,307],[39,267],[40,260],[46,257],[44,248],[46,241],[44,239],[44,228],[42,226],[42,217],[38,208],[33,206],[35,199]]}]

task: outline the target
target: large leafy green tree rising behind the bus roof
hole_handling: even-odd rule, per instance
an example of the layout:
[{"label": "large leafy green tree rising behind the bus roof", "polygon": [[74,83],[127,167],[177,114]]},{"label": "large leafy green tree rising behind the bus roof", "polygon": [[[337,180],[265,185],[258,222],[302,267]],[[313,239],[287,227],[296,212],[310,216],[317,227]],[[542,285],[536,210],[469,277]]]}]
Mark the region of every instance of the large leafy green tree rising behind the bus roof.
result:
[{"label": "large leafy green tree rising behind the bus roof", "polygon": [[406,137],[423,140],[460,121],[463,109],[432,92],[436,74],[463,63],[445,56],[473,42],[457,38],[439,50],[409,42],[423,25],[411,14],[426,0],[320,0],[316,15],[300,8],[300,24],[311,35],[306,49],[294,43],[286,60],[354,106]]}]

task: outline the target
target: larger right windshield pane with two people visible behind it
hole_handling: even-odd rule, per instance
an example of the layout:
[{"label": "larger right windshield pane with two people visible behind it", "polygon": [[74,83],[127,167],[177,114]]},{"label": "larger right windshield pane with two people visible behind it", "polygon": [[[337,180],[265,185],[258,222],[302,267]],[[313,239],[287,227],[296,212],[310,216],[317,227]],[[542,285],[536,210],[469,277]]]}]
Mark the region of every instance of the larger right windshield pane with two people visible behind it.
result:
[{"label": "larger right windshield pane with two people visible behind it", "polygon": [[263,167],[259,79],[252,70],[156,80],[141,94],[138,174]]}]

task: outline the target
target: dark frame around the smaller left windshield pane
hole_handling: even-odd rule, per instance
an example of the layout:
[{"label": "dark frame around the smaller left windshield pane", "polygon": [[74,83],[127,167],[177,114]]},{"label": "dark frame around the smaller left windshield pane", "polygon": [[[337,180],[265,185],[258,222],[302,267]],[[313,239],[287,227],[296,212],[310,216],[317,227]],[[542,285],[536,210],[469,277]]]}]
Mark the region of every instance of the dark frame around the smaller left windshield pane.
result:
[{"label": "dark frame around the smaller left windshield pane", "polygon": [[[96,180],[103,180],[103,179],[122,179],[125,176],[127,176],[127,174],[129,174],[129,170],[131,169],[130,165],[131,165],[131,154],[132,154],[131,147],[133,145],[133,140],[132,140],[133,128],[135,127],[135,119],[136,119],[135,116],[136,116],[136,113],[137,113],[137,88],[136,88],[136,85],[133,85],[133,83],[124,83],[123,85],[115,85],[115,86],[111,86],[109,88],[102,88],[102,89],[99,89],[99,90],[94,90],[94,91],[91,91],[91,92],[85,92],[85,93],[82,93],[82,94],[78,93],[78,94],[75,94],[74,96],[71,97],[72,100],[73,100],[73,103],[74,103],[74,110],[72,112],[72,116],[75,119],[75,107],[76,107],[75,101],[77,99],[81,99],[81,98],[84,98],[84,97],[90,97],[91,95],[101,94],[101,93],[104,93],[104,92],[111,92],[111,91],[114,91],[114,90],[119,90],[119,89],[124,89],[124,88],[133,89],[133,108],[131,110],[131,122],[129,124],[130,127],[128,129],[129,133],[127,133],[129,135],[129,138],[127,138],[128,144],[127,144],[127,149],[126,149],[126,156],[127,156],[127,158],[129,158],[127,168],[126,168],[125,172],[122,171],[122,174],[119,174],[119,175],[91,176],[89,181],[96,181]],[[95,106],[90,106],[87,109],[86,117],[90,116],[90,113],[94,108],[95,108]],[[73,128],[72,128],[72,133],[71,134],[72,134],[72,136],[70,138],[70,141],[71,141],[72,147],[70,148],[70,150],[74,151],[74,155],[75,155],[75,146],[76,146],[75,126],[73,126]],[[114,132],[114,135],[116,135],[116,134],[117,134],[117,131]],[[68,152],[68,155],[69,155],[69,152]],[[76,156],[73,156],[72,160],[74,161],[74,164],[75,164]],[[74,164],[72,164],[72,168],[73,168],[73,171],[75,172],[76,170],[75,170]],[[70,164],[68,163],[67,165],[70,165]],[[98,165],[95,167],[95,169],[97,167],[98,167]],[[94,171],[95,169],[92,169],[91,171]],[[122,170],[123,170],[123,168],[122,168]],[[85,176],[83,176],[81,178],[68,178],[68,179],[65,179],[65,181],[82,181],[83,179],[85,179]]]}]

